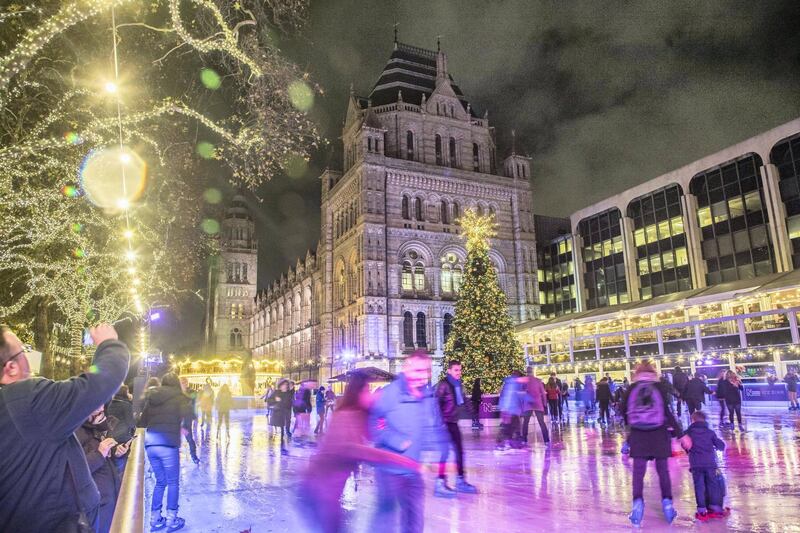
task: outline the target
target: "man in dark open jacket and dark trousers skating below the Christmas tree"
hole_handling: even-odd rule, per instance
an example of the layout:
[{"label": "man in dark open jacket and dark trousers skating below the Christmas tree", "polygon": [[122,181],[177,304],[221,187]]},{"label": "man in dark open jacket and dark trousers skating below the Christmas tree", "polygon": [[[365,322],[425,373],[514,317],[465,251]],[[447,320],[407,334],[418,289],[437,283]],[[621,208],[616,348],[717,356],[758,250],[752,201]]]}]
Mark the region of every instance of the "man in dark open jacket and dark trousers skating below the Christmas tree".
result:
[{"label": "man in dark open jacket and dark trousers skating below the Christmas tree", "polygon": [[[458,477],[456,478],[455,491],[477,494],[478,489],[474,485],[467,483],[464,478],[464,445],[461,441],[461,430],[458,429],[458,420],[461,418],[461,411],[465,404],[464,388],[461,385],[461,361],[452,360],[447,363],[447,376],[439,381],[436,387],[436,399],[439,402],[439,409],[442,412],[447,433],[450,435],[450,443],[456,454],[456,467]],[[436,480],[434,495],[439,497],[452,497],[455,495],[453,489],[447,485],[447,457],[450,455],[450,446],[442,453],[439,461],[439,478]]]}]

